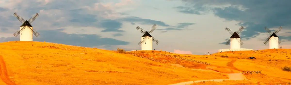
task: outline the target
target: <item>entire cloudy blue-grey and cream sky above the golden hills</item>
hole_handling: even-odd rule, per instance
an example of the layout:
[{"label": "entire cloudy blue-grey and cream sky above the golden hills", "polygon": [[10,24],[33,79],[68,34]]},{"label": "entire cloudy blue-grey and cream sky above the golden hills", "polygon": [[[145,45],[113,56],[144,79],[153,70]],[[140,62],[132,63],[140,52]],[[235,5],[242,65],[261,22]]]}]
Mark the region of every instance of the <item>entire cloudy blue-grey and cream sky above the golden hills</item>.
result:
[{"label": "entire cloudy blue-grey and cream sky above the golden hills", "polygon": [[100,49],[140,50],[138,43],[148,31],[159,40],[153,49],[182,54],[210,54],[225,45],[237,31],[244,44],[241,48],[268,49],[263,42],[270,36],[267,26],[277,33],[280,46],[291,48],[290,0],[1,0],[0,42],[17,41],[13,34],[22,23],[13,16],[29,20],[40,35],[34,41],[97,47]]}]

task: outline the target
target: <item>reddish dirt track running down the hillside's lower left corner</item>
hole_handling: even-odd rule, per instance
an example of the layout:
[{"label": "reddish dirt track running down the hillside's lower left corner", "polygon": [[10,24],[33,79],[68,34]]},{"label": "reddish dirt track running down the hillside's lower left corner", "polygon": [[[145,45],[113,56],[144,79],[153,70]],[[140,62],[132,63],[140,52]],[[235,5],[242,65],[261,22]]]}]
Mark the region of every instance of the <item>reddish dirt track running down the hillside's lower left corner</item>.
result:
[{"label": "reddish dirt track running down the hillside's lower left corner", "polygon": [[8,72],[7,72],[7,69],[6,69],[6,64],[5,64],[4,60],[3,60],[3,56],[1,56],[1,55],[0,55],[0,64],[1,64],[0,77],[1,77],[2,81],[5,82],[7,85],[16,85],[14,82],[12,82],[9,79]]}]

